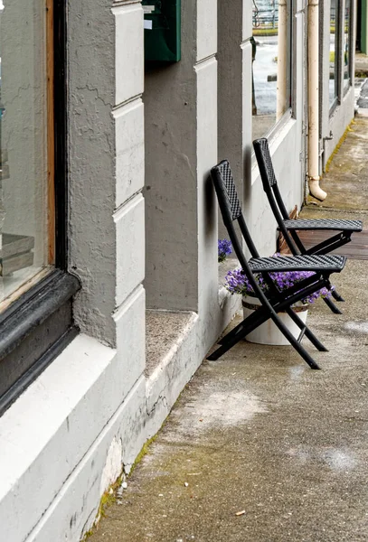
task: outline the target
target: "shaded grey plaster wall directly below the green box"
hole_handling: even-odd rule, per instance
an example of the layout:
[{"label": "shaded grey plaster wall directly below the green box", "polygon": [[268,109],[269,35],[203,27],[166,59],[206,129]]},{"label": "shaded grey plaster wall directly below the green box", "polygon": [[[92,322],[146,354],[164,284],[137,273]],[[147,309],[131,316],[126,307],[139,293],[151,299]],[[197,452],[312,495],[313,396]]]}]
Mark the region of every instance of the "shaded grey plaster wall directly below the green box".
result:
[{"label": "shaded grey plaster wall directly below the green box", "polygon": [[182,60],[146,68],[147,307],[197,310],[196,2],[182,2]]}]

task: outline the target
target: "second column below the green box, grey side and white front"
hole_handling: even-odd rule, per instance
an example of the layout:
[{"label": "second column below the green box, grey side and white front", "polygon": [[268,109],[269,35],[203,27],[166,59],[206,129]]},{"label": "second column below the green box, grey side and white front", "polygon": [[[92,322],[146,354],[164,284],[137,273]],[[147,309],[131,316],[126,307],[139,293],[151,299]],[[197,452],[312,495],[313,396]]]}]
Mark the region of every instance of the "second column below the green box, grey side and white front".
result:
[{"label": "second column below the green box, grey side and white front", "polygon": [[[216,3],[182,2],[182,60],[146,67],[146,292],[155,309],[198,311],[213,287],[217,161]],[[204,263],[205,262],[205,263]],[[210,268],[208,267],[210,266]]]}]

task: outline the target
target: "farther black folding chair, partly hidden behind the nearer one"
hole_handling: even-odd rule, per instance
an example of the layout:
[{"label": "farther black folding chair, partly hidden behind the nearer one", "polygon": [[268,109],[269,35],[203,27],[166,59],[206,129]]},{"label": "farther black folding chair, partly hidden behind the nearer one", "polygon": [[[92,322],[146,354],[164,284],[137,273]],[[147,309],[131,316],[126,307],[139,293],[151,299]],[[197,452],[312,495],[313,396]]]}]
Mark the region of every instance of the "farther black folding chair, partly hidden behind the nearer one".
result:
[{"label": "farther black folding chair, partly hidden behind the nearer one", "polygon": [[[266,137],[255,139],[253,141],[254,152],[256,154],[259,165],[260,178],[263,184],[263,190],[266,192],[269,199],[269,205],[273,211],[275,219],[278,222],[278,229],[284,236],[288,248],[294,255],[297,254],[329,254],[336,248],[342,247],[345,243],[351,241],[352,234],[355,231],[362,231],[363,223],[361,220],[335,220],[335,219],[297,219],[289,220],[288,211],[282,201],[281,194],[278,190],[278,182],[273,169],[271,155],[269,153],[269,142]],[[306,248],[301,239],[297,235],[299,230],[334,230],[338,231],[315,245],[312,248]],[[332,291],[336,301],[344,301],[343,297]],[[341,311],[336,307],[331,299],[325,298],[325,303],[330,307],[333,313],[341,314]]]}]

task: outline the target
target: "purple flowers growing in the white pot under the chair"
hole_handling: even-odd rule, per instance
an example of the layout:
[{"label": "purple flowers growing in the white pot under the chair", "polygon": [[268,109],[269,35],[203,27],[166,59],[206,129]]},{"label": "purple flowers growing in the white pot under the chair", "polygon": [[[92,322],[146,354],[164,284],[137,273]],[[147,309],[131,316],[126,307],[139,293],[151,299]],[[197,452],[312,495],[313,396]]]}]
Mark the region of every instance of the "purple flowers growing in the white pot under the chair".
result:
[{"label": "purple flowers growing in the white pot under the chair", "polygon": [[[276,253],[273,257],[278,257],[279,254]],[[274,284],[277,286],[278,291],[282,292],[287,290],[289,287],[301,282],[308,276],[312,276],[315,273],[313,271],[278,271],[274,273],[269,273],[269,276],[273,280]],[[258,282],[260,289],[265,294],[268,293],[269,287],[265,283],[263,277],[258,274],[254,278]],[[250,281],[242,269],[233,269],[229,271],[225,277],[225,288],[231,292],[231,294],[241,294],[243,296],[250,295],[254,296],[254,291],[250,285]],[[332,289],[334,286],[332,286]],[[306,298],[302,299],[303,304],[312,304],[315,303],[318,297],[331,297],[332,289],[328,290],[327,288],[321,288],[313,294],[309,294]]]}]

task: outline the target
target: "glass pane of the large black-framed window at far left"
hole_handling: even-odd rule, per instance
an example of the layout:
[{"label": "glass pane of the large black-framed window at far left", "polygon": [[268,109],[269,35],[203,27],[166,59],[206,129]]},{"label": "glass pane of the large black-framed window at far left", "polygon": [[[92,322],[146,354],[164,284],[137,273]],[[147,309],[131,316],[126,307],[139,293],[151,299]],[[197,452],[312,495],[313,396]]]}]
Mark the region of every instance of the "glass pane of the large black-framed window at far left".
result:
[{"label": "glass pane of the large black-framed window at far left", "polygon": [[44,0],[2,0],[0,301],[47,264],[45,34]]}]

